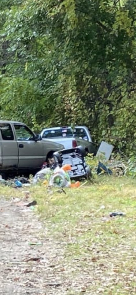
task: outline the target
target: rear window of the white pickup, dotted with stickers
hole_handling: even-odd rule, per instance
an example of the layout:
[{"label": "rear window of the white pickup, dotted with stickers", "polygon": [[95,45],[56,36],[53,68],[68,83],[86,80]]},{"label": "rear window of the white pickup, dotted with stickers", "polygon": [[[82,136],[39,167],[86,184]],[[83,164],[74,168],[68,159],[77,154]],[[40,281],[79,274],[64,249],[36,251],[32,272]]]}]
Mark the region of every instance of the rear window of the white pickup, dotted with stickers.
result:
[{"label": "rear window of the white pickup, dotted with stickers", "polygon": [[84,140],[89,140],[86,130],[83,128],[75,128],[72,132],[71,128],[60,128],[60,129],[50,129],[45,130],[42,138],[62,138],[62,137],[79,137]]}]

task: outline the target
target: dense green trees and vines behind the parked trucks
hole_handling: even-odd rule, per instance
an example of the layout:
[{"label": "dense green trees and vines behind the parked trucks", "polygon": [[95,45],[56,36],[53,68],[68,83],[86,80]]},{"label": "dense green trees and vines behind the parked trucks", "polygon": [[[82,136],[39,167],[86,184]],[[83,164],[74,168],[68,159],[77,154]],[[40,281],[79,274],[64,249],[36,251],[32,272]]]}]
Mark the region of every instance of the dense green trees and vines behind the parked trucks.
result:
[{"label": "dense green trees and vines behind the parked trucks", "polygon": [[134,153],[135,14],[135,0],[1,1],[1,119],[85,124]]}]

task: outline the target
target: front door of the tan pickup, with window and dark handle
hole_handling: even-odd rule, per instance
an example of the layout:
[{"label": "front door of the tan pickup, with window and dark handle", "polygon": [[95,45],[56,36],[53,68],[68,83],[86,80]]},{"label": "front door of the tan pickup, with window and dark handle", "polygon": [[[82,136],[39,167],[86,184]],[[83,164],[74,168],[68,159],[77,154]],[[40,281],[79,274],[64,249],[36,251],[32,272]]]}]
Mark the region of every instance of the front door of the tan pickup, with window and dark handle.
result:
[{"label": "front door of the tan pickup, with window and dark handle", "polygon": [[23,124],[14,124],[19,150],[19,168],[40,168],[43,160],[43,143],[35,142],[33,132]]}]

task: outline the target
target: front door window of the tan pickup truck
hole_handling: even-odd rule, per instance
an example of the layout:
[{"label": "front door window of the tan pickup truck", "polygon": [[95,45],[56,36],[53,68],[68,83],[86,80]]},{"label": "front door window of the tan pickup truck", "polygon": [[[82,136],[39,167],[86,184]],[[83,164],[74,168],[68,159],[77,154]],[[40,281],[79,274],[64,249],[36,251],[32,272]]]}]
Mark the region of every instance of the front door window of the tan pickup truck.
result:
[{"label": "front door window of the tan pickup truck", "polygon": [[34,140],[33,133],[24,125],[14,124],[17,140]]}]

